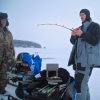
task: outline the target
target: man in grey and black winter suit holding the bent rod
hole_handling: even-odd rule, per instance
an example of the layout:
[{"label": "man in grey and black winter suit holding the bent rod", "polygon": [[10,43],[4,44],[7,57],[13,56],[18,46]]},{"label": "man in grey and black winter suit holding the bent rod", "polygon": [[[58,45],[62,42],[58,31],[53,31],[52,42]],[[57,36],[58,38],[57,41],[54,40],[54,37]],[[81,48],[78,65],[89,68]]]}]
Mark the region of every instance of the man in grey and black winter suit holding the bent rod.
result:
[{"label": "man in grey and black winter suit holding the bent rod", "polygon": [[100,26],[92,22],[90,11],[80,11],[82,25],[73,29],[68,65],[75,70],[76,100],[90,100],[88,81],[94,67],[100,67]]}]

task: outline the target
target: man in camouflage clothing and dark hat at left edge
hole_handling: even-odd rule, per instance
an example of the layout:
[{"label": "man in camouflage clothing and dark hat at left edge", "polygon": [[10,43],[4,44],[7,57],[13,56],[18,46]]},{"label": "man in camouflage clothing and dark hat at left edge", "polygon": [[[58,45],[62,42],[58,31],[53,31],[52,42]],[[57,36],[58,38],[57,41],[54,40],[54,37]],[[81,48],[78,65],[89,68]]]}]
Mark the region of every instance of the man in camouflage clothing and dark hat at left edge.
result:
[{"label": "man in camouflage clothing and dark hat at left edge", "polygon": [[0,94],[6,92],[7,70],[15,63],[13,36],[8,26],[8,14],[0,12]]}]

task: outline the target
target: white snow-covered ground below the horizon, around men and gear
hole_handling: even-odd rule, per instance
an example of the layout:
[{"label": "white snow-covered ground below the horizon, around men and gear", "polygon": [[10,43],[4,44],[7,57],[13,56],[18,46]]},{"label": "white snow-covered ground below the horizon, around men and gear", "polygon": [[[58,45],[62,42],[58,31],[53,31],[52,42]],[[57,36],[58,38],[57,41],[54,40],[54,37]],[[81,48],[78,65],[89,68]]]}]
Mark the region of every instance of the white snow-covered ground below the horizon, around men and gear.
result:
[{"label": "white snow-covered ground below the horizon, around men and gear", "polygon": [[[47,63],[58,63],[59,67],[63,67],[67,69],[70,72],[71,76],[74,76],[74,71],[72,67],[68,67],[68,58],[71,51],[70,48],[57,48],[57,49],[35,49],[35,48],[15,48],[16,50],[16,56],[20,52],[29,52],[30,54],[36,54],[38,53],[42,59],[42,69],[46,68]],[[47,59],[45,59],[47,58]],[[94,68],[92,75],[89,80],[89,89],[90,89],[90,95],[91,100],[100,100],[100,69]],[[15,95],[15,87],[7,85],[6,87],[7,91],[9,91],[12,95]],[[6,100],[6,99],[5,99]]]}]

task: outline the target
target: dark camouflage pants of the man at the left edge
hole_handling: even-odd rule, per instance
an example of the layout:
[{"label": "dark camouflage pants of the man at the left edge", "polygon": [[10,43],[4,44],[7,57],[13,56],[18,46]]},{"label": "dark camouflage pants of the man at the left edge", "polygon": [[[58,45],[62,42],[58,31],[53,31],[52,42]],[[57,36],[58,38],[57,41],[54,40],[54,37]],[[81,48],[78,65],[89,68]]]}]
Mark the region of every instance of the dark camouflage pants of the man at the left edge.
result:
[{"label": "dark camouflage pants of the man at the left edge", "polygon": [[7,85],[7,64],[0,64],[0,90],[5,89]]}]

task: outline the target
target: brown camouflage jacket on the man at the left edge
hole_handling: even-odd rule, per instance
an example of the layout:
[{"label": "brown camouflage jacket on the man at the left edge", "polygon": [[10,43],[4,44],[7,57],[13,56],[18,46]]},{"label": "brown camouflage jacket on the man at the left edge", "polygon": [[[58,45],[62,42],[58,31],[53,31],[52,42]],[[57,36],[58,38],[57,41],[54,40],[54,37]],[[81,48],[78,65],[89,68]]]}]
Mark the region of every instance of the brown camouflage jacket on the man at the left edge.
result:
[{"label": "brown camouflage jacket on the man at the left edge", "polygon": [[10,31],[0,28],[0,61],[8,61],[15,58],[13,36]]}]

